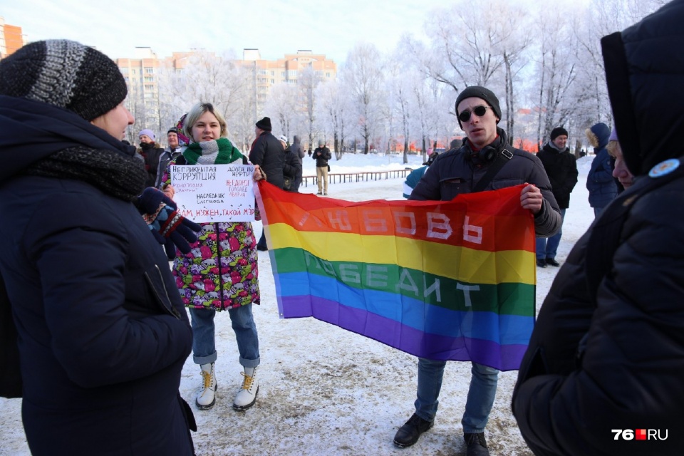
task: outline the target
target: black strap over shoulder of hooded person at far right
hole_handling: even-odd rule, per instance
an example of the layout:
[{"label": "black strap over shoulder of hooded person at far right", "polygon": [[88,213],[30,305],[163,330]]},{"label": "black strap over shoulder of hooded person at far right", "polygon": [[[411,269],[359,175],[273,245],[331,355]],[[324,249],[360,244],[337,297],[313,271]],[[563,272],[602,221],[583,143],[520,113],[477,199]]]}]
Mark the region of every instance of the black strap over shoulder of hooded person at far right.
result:
[{"label": "black strap over shoulder of hooded person at far right", "polygon": [[622,192],[611,204],[608,204],[606,209],[603,209],[603,212],[594,222],[586,246],[584,264],[589,296],[596,296],[598,285],[601,284],[603,277],[610,274],[611,269],[613,269],[613,257],[620,244],[622,228],[634,203],[655,188],[679,177],[684,177],[684,157],[675,160],[679,162],[677,169],[658,177],[642,177],[635,184],[634,190],[637,190],[636,192]]}]

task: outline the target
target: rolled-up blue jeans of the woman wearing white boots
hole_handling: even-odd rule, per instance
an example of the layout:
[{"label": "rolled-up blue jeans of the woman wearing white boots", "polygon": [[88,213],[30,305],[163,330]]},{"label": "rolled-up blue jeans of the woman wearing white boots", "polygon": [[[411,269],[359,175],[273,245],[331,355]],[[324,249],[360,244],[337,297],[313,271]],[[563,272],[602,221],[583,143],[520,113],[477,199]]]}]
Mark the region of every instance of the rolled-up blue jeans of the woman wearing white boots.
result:
[{"label": "rolled-up blue jeans of the woman wearing white boots", "polygon": [[[229,309],[230,322],[235,331],[237,350],[240,353],[240,365],[245,368],[259,366],[259,336],[257,325],[252,315],[252,304]],[[195,364],[209,364],[216,361],[216,343],[214,339],[214,316],[211,309],[190,308],[192,317],[192,361]]]}]

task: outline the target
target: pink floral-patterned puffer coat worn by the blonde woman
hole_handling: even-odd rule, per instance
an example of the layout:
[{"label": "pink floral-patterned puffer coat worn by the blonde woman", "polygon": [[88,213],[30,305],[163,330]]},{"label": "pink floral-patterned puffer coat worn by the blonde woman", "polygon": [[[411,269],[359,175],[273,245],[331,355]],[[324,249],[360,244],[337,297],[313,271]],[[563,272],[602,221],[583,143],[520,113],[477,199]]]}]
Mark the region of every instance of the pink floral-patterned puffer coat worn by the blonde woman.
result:
[{"label": "pink floral-patterned puffer coat worn by the blonde woman", "polygon": [[[168,179],[172,160],[167,167]],[[190,253],[176,251],[173,275],[185,306],[222,311],[259,304],[257,240],[250,222],[200,223]]]}]

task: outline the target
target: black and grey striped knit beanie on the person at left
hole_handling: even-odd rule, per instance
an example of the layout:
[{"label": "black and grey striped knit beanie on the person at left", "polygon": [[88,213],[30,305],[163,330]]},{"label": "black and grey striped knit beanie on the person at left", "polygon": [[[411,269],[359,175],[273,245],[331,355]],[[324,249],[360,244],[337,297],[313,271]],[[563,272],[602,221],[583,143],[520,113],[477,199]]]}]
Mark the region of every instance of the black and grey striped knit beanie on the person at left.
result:
[{"label": "black and grey striped knit beanie on the person at left", "polygon": [[116,108],[127,93],[116,63],[76,41],[36,41],[0,61],[0,95],[66,108],[86,120]]}]

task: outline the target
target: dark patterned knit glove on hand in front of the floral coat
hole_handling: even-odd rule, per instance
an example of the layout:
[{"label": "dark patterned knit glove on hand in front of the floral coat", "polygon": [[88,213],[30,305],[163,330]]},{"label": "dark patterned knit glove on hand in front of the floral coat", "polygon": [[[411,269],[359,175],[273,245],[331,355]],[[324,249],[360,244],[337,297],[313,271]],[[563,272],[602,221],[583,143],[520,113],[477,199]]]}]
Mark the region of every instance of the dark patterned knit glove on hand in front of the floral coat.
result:
[{"label": "dark patterned knit glove on hand in front of the floral coat", "polygon": [[184,254],[190,253],[190,243],[197,242],[196,233],[202,227],[179,214],[172,199],[161,190],[147,187],[138,197],[137,205],[150,232],[164,246],[168,259],[176,257],[176,247]]}]

